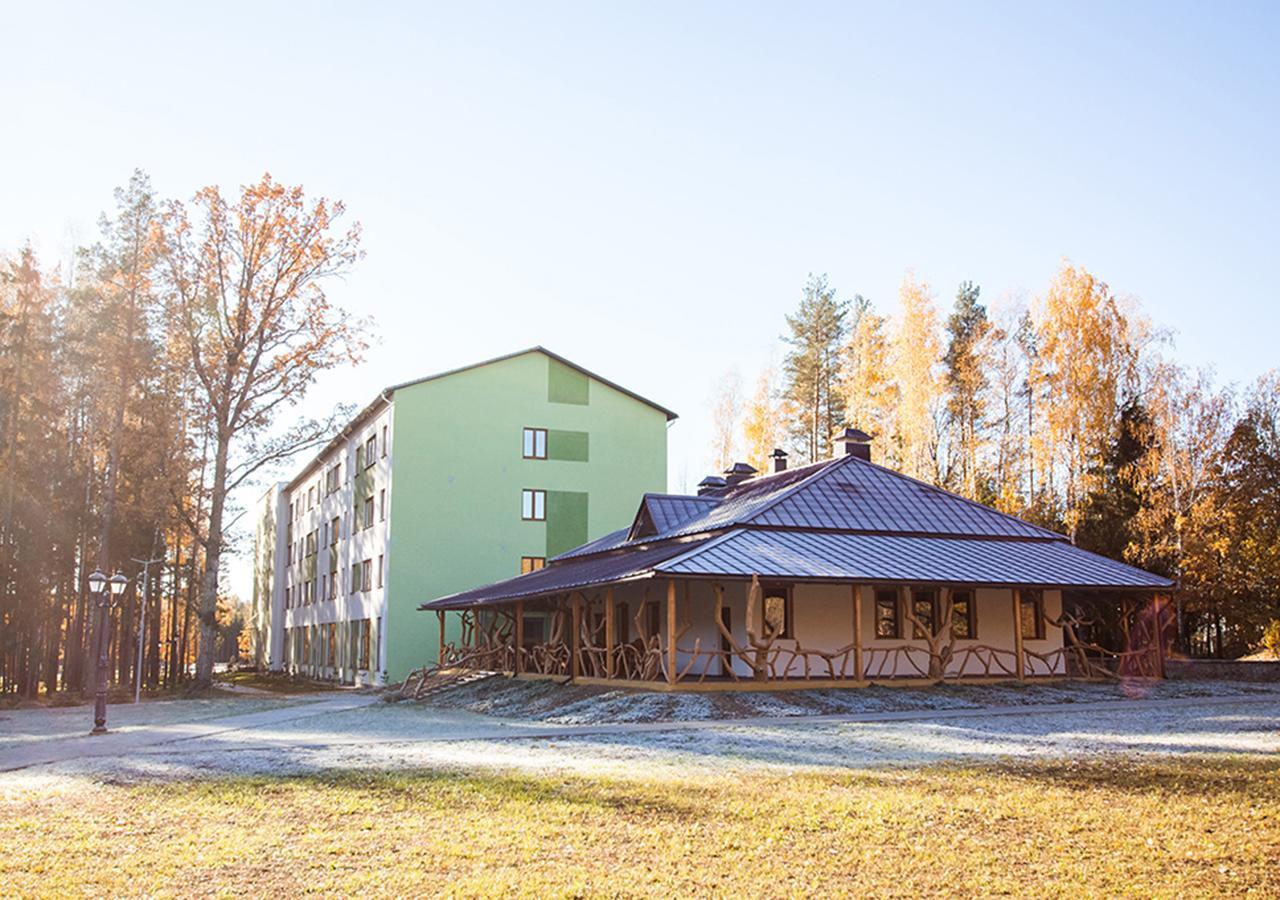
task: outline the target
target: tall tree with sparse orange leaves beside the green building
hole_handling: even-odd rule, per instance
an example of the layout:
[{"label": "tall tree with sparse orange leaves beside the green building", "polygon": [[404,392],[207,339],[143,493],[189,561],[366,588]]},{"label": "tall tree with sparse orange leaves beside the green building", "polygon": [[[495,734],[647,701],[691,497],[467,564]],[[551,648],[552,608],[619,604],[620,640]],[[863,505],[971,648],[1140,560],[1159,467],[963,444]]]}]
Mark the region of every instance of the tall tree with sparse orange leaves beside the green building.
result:
[{"label": "tall tree with sparse orange leaves beside the green building", "polygon": [[219,568],[227,497],[262,466],[315,447],[337,416],[273,425],[326,369],[358,362],[366,323],[330,302],[325,285],[360,259],[360,227],[342,230],[340,202],[308,200],[301,187],[264,175],[228,202],[216,187],[163,220],[169,326],[188,356],[211,451],[204,521],[189,526],[204,549],[196,684],[212,680]]}]

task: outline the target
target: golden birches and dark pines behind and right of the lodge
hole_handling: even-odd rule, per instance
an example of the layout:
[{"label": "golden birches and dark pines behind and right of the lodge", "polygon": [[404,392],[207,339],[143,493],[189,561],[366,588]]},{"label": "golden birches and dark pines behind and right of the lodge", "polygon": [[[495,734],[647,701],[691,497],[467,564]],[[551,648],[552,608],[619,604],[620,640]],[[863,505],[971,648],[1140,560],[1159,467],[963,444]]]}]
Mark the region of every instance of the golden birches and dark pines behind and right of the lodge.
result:
[{"label": "golden birches and dark pines behind and right of the lodge", "polygon": [[1280,620],[1280,370],[1217,384],[1069,262],[991,310],[908,277],[892,316],[810,277],[782,339],[781,366],[717,387],[721,469],[820,460],[854,425],[876,462],[1175,579],[1184,652],[1247,653]]}]

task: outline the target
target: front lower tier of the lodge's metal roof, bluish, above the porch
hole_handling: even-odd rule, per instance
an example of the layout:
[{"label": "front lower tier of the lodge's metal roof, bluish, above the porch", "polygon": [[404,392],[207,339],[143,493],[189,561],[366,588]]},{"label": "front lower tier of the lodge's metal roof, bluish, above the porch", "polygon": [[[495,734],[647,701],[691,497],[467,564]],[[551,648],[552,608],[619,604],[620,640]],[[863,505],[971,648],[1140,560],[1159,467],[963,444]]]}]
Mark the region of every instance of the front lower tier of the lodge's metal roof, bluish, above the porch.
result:
[{"label": "front lower tier of the lodge's metal roof, bluish, above the porch", "polygon": [[1061,540],[927,538],[737,529],[654,566],[655,574],[796,581],[1162,589],[1172,583]]}]

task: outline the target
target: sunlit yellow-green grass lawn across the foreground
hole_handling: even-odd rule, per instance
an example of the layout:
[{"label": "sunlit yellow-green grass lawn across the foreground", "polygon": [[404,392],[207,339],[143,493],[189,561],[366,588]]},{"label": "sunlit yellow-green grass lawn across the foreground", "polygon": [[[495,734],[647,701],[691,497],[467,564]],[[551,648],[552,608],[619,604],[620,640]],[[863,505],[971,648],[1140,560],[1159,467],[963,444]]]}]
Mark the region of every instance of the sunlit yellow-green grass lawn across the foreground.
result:
[{"label": "sunlit yellow-green grass lawn across the foreground", "polygon": [[1280,766],[412,772],[0,800],[6,895],[1280,894]]}]

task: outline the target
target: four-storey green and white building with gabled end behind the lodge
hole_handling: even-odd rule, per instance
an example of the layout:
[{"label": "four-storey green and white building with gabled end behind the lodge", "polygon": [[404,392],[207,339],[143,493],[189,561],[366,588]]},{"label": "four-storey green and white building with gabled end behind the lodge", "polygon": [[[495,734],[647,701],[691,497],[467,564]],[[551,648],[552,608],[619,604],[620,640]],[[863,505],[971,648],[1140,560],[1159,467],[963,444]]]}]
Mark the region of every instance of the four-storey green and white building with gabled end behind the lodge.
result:
[{"label": "four-storey green and white building with gabled end behind the lodge", "polygon": [[628,525],[675,417],[541,347],[387,388],[260,501],[259,666],[383,684],[434,662],[419,604]]}]

